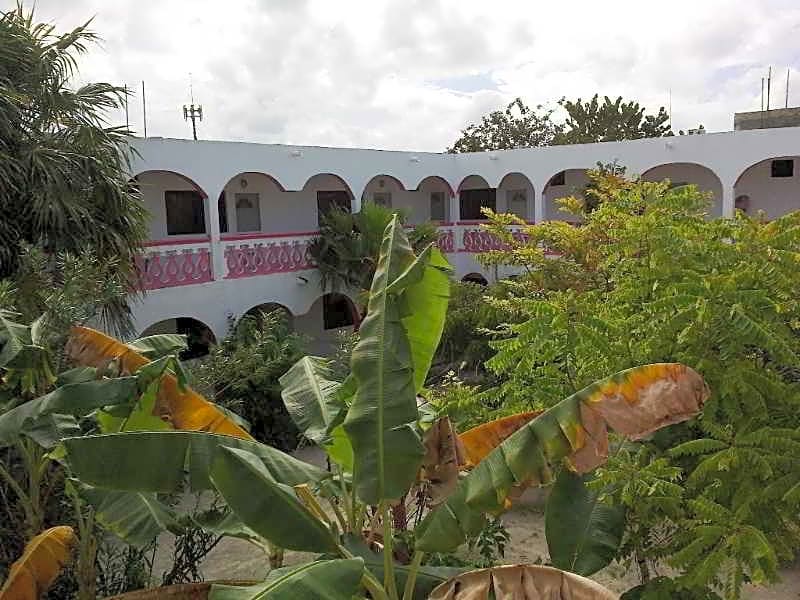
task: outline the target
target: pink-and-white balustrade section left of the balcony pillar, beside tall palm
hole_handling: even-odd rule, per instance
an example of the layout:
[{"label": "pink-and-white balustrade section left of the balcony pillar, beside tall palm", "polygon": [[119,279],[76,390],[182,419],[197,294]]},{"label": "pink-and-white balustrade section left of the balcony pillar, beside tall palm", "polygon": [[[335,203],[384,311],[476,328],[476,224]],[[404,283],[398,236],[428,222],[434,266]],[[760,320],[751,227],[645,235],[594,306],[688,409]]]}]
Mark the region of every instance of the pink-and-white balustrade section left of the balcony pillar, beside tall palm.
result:
[{"label": "pink-and-white balustrade section left of the balcony pillar, beside tall palm", "polygon": [[211,251],[206,239],[150,242],[136,259],[141,286],[157,290],[205,283],[213,279]]}]

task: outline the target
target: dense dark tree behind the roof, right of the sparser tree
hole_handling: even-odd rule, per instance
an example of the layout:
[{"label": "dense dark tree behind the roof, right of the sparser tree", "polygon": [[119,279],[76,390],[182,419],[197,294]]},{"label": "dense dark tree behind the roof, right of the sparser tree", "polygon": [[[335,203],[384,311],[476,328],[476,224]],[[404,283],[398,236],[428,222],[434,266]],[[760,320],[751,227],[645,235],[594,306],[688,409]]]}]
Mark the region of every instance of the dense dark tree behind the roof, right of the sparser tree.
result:
[{"label": "dense dark tree behind the roof, right of the sparser tree", "polygon": [[622,96],[603,102],[595,94],[591,100],[561,99],[559,104],[567,111],[564,130],[559,132],[556,144],[591,144],[619,140],[638,140],[648,137],[672,135],[669,115],[662,106],[658,114],[646,115],[638,102],[623,102]]}]

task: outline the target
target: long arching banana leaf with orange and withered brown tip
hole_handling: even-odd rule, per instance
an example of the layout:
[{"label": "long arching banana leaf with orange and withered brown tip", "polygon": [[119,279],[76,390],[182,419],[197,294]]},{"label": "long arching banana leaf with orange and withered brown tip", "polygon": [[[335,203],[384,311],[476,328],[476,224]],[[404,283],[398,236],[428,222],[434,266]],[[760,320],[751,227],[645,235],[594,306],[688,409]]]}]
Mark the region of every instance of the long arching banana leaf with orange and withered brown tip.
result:
[{"label": "long arching banana leaf with orange and withered brown tip", "polygon": [[486,513],[509,505],[509,496],[549,483],[564,459],[587,473],[608,456],[608,428],[639,439],[695,416],[708,397],[695,371],[658,363],[621,371],[562,400],[522,426],[464,477],[455,492],[416,529],[416,548],[451,552],[480,531]]}]

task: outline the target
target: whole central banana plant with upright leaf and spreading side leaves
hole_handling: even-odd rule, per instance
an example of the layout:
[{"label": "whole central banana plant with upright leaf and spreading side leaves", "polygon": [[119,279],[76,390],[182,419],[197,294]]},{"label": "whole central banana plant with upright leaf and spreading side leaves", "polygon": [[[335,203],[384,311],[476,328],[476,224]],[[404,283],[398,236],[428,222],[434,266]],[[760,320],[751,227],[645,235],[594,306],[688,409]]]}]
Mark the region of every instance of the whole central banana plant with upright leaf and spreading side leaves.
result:
[{"label": "whole central banana plant with upright leaf and spreading side leaves", "polygon": [[[70,467],[97,489],[214,490],[239,531],[318,555],[307,565],[278,570],[254,588],[217,587],[212,598],[280,597],[271,585],[312,585],[317,574],[327,578],[323,574],[336,563],[341,585],[325,586],[327,595],[321,597],[351,598],[366,590],[378,600],[411,600],[428,597],[435,587],[452,588],[448,581],[454,573],[424,566],[425,553],[457,549],[480,530],[487,513],[507,508],[528,485],[548,483],[562,464],[577,473],[601,464],[608,429],[646,435],[692,417],[705,400],[705,385],[691,369],[646,365],[597,382],[538,416],[506,423],[489,447],[475,450],[471,462],[460,460],[452,430],[437,423],[423,431],[417,406],[441,336],[448,291],[441,254],[428,247],[415,256],[393,219],[350,376],[336,381],[322,359],[307,357],[282,379],[289,413],[328,452],[333,473],[253,440],[199,431],[70,438],[64,441]],[[467,443],[470,437],[465,436]],[[437,468],[442,461],[446,468]],[[459,479],[462,467],[471,470]],[[445,490],[438,504],[418,503],[421,523],[413,531],[413,555],[403,556],[395,537],[407,515],[398,508],[409,495],[420,497],[410,492],[424,491],[431,473],[455,475],[456,481],[438,488]]]}]

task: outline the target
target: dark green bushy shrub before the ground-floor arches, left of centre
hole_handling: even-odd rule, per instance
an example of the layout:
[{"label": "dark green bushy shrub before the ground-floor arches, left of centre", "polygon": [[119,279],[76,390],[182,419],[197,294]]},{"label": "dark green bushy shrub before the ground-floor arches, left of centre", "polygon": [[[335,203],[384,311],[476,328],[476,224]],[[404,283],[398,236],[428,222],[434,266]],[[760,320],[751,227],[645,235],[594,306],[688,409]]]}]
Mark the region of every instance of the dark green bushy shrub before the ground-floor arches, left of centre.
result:
[{"label": "dark green bushy shrub before the ground-floor arches, left of centre", "polygon": [[244,315],[192,374],[200,390],[250,424],[256,439],[293,449],[299,432],[278,379],[303,355],[303,345],[281,311]]}]

